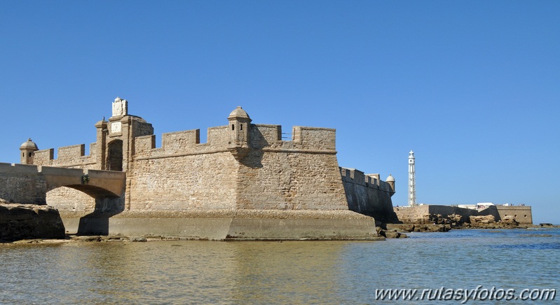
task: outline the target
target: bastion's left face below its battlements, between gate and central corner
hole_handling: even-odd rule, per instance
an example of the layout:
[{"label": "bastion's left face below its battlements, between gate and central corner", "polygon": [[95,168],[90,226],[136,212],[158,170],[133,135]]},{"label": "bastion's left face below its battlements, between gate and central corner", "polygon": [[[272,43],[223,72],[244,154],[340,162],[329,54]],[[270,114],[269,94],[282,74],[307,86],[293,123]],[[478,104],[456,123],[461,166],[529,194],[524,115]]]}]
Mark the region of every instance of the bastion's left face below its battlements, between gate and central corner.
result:
[{"label": "bastion's left face below its battlements, between gate and central corner", "polygon": [[234,208],[237,166],[230,152],[135,158],[128,173],[130,210]]}]

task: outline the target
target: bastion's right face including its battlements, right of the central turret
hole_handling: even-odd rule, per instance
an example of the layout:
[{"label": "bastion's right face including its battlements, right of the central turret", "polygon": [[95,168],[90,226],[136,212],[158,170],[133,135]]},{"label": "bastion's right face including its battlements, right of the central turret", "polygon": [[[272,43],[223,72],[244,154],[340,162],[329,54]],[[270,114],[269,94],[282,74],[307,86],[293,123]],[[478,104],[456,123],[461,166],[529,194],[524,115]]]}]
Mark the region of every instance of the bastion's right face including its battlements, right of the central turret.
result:
[{"label": "bastion's right face including its battlements, right of the central turret", "polygon": [[238,208],[348,210],[335,129],[293,127],[282,141],[279,125],[252,125],[249,155],[240,162]]}]

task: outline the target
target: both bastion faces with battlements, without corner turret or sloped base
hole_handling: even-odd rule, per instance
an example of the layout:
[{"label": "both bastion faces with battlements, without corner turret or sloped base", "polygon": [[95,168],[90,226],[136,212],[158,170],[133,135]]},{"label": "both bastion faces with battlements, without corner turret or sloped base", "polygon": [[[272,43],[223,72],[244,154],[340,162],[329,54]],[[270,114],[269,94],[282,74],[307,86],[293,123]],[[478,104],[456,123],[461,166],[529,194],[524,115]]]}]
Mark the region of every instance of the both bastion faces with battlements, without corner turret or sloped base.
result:
[{"label": "both bastion faces with battlements, without corner turret or sloped base", "polygon": [[251,125],[250,153],[228,151],[228,126],[135,139],[131,210],[347,210],[334,150],[334,129],[294,127],[282,141],[279,125]]}]

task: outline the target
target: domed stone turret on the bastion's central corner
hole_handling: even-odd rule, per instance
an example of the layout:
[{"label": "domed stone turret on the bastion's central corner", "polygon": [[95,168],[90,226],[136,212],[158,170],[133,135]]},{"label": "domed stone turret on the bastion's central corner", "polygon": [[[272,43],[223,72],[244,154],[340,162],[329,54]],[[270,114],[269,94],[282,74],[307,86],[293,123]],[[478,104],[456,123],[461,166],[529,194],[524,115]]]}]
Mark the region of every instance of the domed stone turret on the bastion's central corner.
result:
[{"label": "domed stone turret on the bastion's central corner", "polygon": [[249,135],[251,118],[240,106],[235,108],[228,116],[229,141],[228,150],[236,160],[240,161],[249,153]]}]

